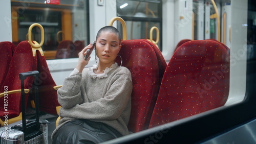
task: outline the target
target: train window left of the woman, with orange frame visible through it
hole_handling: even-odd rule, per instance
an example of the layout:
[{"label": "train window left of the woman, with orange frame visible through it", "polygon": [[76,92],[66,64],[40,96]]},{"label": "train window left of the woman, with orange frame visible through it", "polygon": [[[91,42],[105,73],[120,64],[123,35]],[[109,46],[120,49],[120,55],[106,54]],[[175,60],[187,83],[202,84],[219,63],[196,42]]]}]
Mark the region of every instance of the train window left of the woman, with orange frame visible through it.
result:
[{"label": "train window left of the woman, with orange frame visible through it", "polygon": [[[13,43],[28,40],[28,28],[39,23],[45,30],[41,47],[46,59],[78,57],[84,43],[89,43],[88,1],[49,2],[11,1]],[[39,28],[32,30],[32,40],[40,42],[40,35]]]}]

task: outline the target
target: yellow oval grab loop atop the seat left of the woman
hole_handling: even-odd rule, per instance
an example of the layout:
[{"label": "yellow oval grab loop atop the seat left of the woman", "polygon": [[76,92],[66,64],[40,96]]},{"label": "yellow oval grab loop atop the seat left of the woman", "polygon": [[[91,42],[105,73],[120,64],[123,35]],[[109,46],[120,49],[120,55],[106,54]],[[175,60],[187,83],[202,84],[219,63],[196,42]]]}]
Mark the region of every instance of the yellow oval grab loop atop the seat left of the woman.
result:
[{"label": "yellow oval grab loop atop the seat left of the woman", "polygon": [[[32,29],[37,26],[40,28],[41,30],[41,42],[38,44],[38,45],[35,45],[33,42],[32,42]],[[44,44],[44,41],[45,41],[45,31],[44,31],[44,28],[42,28],[42,26],[39,24],[39,23],[33,23],[30,27],[29,27],[29,44],[34,47],[34,48],[39,48],[42,46],[42,44]]]}]

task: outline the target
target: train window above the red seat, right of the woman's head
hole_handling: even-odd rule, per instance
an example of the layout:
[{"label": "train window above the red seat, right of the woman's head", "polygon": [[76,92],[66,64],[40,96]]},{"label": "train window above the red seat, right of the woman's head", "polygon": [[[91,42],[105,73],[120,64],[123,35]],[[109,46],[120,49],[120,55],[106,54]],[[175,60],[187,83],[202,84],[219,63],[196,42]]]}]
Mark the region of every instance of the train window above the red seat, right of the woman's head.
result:
[{"label": "train window above the red seat, right of the woman's head", "polygon": [[[161,1],[124,1],[117,0],[117,16],[122,17],[127,26],[127,39],[150,39],[150,30],[162,29]],[[121,25],[117,26],[121,31]],[[161,34],[158,46],[161,50]],[[156,32],[153,31],[156,41]]]}]

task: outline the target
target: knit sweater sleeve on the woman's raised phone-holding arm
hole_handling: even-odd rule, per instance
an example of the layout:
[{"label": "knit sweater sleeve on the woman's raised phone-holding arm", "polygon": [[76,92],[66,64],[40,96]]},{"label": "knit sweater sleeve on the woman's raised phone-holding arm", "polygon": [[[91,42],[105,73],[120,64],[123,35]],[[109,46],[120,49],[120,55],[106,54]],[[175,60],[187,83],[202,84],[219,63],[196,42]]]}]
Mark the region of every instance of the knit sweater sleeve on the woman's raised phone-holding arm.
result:
[{"label": "knit sweater sleeve on the woman's raised phone-holding arm", "polygon": [[61,88],[58,89],[58,102],[63,108],[71,108],[76,104],[81,104],[80,85],[82,74],[71,75],[64,80]]}]

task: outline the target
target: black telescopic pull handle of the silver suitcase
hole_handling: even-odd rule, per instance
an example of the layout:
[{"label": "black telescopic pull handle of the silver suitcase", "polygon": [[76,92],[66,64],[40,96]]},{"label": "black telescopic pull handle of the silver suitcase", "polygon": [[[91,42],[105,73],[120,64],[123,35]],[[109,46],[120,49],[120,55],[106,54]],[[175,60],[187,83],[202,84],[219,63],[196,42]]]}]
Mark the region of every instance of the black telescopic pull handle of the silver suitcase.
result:
[{"label": "black telescopic pull handle of the silver suitcase", "polygon": [[[24,91],[24,80],[27,77],[33,76],[34,77],[34,92],[35,92],[35,110],[36,110],[36,124],[26,124],[26,107],[25,107],[25,91]],[[39,123],[39,101],[38,101],[38,86],[36,83],[38,82],[39,72],[37,70],[28,71],[25,73],[19,73],[19,79],[21,80],[22,84],[22,126],[23,132],[25,135],[25,139],[27,139],[27,135],[31,129],[35,131],[40,131],[40,123]],[[29,130],[28,130],[29,129]]]}]

